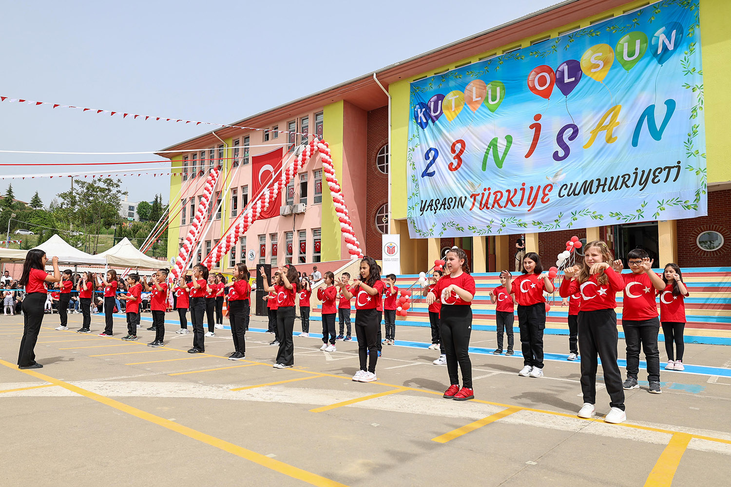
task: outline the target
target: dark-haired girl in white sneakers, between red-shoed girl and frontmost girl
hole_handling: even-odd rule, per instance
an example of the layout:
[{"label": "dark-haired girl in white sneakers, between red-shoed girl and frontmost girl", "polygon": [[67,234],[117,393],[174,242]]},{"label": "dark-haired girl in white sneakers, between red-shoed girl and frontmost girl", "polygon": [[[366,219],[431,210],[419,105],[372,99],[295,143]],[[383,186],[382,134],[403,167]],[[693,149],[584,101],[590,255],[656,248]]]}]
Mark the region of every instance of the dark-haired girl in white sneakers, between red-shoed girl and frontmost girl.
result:
[{"label": "dark-haired girl in white sneakers, between red-shoed girl and frontmost girl", "polygon": [[543,291],[553,293],[553,280],[543,274],[541,258],[535,252],[523,257],[523,275],[507,280],[510,273],[503,271],[507,294],[515,294],[518,303],[520,348],[523,350],[521,377],[543,377],[543,330],[546,327],[546,299]]}]

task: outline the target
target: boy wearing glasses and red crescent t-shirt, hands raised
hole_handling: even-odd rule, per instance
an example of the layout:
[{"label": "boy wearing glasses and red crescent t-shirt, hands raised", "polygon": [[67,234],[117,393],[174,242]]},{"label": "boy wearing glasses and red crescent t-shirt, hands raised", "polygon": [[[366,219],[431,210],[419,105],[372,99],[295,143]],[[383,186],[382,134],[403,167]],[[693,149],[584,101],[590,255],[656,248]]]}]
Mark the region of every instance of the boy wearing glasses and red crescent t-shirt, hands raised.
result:
[{"label": "boy wearing glasses and red crescent t-shirt, hands raised", "polygon": [[[624,301],[622,302],[622,329],[627,350],[627,378],[622,383],[625,389],[637,389],[637,373],[640,371],[640,345],[645,351],[649,390],[661,394],[660,352],[657,348],[657,334],[660,319],[657,312],[655,291],[662,291],[665,283],[652,270],[648,253],[641,248],[630,250],[627,264],[631,274],[622,274],[624,280]],[[615,272],[622,272],[621,260],[614,261]]]}]

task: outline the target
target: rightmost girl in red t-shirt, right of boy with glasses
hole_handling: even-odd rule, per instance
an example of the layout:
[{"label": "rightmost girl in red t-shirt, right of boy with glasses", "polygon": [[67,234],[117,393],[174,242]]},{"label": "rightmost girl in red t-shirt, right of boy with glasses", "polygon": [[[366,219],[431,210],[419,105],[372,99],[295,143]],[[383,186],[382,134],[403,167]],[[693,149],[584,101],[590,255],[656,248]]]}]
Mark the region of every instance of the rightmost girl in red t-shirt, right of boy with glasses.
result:
[{"label": "rightmost girl in red t-shirt, right of boy with glasses", "polygon": [[[662,273],[665,288],[657,291],[660,295],[660,323],[665,336],[665,352],[667,365],[665,370],[685,370],[683,367],[683,330],[685,329],[685,299],[689,296],[688,288],[683,283],[683,272],[678,264],[667,264]],[[673,354],[673,342],[677,348],[677,356]],[[673,360],[675,357],[675,360]]]}]

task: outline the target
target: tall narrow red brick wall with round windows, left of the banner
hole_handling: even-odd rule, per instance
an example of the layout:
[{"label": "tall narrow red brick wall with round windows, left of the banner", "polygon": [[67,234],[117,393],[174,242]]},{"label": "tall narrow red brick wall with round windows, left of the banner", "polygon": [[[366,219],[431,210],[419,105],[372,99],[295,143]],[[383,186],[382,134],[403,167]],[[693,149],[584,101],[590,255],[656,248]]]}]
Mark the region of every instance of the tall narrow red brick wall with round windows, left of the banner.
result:
[{"label": "tall narrow red brick wall with round windows, left of the banner", "polygon": [[376,212],[388,202],[388,176],[376,167],[376,156],[388,143],[388,107],[368,112],[368,136],[366,142],[366,253],[382,258],[381,232],[376,229]]}]

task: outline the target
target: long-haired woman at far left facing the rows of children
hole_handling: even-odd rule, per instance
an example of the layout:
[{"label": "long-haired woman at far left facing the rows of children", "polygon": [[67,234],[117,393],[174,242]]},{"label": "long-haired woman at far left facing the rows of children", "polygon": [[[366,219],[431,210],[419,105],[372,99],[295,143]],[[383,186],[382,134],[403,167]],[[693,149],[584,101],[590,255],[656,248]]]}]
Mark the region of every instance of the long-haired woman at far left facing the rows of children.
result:
[{"label": "long-haired woman at far left facing the rows of children", "polygon": [[45,272],[48,259],[40,249],[31,249],[26,254],[23,263],[23,275],[20,285],[26,287],[26,299],[23,299],[23,339],[20,340],[18,351],[18,369],[40,369],[43,367],[36,361],[34,348],[38,341],[38,332],[43,322],[43,305],[45,304],[48,288],[45,283],[61,281],[61,272],[58,271],[58,257],[53,257],[53,275]]}]

